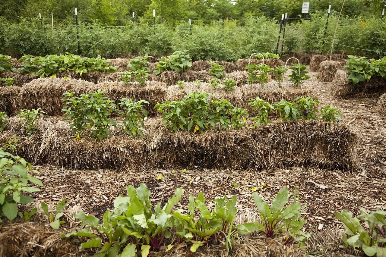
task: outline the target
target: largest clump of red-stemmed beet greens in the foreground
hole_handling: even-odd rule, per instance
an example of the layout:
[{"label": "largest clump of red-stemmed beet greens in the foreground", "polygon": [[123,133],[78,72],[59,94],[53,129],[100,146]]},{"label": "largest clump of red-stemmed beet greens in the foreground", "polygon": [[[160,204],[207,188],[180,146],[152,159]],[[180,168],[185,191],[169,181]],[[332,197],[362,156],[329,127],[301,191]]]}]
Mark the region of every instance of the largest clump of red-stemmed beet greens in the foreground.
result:
[{"label": "largest clump of red-stemmed beet greens in the foreground", "polygon": [[[114,208],[105,212],[102,224],[95,216],[77,213],[74,217],[80,219],[86,228],[62,237],[91,238],[82,243],[81,248],[100,248],[98,256],[134,256],[136,248],[141,246],[142,256],[146,257],[149,250],[160,249],[171,237],[173,208],[181,200],[183,189],[176,189],[163,208],[161,203],[152,206],[149,199],[151,192],[145,184],[141,183],[137,189],[133,186],[126,189],[127,196],[119,195],[114,200]],[[90,229],[96,230],[97,235]]]}]

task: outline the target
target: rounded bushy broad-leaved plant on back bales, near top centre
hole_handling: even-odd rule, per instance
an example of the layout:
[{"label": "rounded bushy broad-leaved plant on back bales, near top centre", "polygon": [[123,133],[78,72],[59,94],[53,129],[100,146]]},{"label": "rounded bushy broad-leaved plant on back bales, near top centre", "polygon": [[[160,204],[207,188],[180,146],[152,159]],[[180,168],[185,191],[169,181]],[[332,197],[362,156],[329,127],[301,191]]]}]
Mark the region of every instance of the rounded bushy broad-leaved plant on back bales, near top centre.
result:
[{"label": "rounded bushy broad-leaved plant on back bales, near top centre", "polygon": [[154,73],[159,75],[166,70],[177,71],[183,73],[192,66],[192,59],[188,50],[175,51],[168,57],[161,57],[157,60],[158,63],[154,69]]}]

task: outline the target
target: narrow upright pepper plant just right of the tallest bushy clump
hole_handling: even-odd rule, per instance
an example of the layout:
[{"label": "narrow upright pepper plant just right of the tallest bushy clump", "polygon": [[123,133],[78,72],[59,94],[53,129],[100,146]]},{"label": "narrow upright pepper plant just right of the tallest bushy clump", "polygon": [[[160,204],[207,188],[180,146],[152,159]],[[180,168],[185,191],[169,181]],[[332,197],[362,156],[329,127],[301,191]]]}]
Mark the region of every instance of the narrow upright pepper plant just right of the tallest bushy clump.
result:
[{"label": "narrow upright pepper plant just right of the tallest bushy clump", "polygon": [[142,128],[145,127],[144,120],[147,117],[147,111],[143,108],[142,103],[149,103],[148,101],[134,101],[132,99],[121,98],[120,103],[118,104],[123,112],[120,112],[120,117],[123,118],[123,125],[125,131],[129,133],[130,136],[135,136],[137,134],[143,136],[142,130],[139,128],[141,124]]}]

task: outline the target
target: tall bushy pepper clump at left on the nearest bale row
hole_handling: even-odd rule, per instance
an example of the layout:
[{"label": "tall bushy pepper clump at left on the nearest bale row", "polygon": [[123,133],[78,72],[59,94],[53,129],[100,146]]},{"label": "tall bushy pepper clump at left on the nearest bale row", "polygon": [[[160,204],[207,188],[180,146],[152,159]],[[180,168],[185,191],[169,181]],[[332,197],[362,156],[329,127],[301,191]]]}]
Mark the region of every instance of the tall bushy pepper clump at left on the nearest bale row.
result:
[{"label": "tall bushy pepper clump at left on the nearest bale row", "polygon": [[102,140],[110,134],[110,126],[117,124],[110,115],[117,109],[114,101],[103,96],[106,91],[98,90],[95,93],[74,96],[74,92],[64,93],[63,101],[66,101],[63,112],[71,128],[76,131],[80,139],[86,128],[93,128],[91,136]]}]

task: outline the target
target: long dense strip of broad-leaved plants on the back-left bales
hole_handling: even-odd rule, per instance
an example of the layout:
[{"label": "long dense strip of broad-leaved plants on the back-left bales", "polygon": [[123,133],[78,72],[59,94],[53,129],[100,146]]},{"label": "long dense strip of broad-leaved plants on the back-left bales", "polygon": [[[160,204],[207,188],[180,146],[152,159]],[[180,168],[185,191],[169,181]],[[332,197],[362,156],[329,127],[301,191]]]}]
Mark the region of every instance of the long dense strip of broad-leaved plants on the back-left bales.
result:
[{"label": "long dense strip of broad-leaved plants on the back-left bales", "polygon": [[110,59],[98,56],[96,58],[81,57],[71,53],[53,54],[42,56],[30,56],[25,54],[19,62],[25,62],[19,71],[21,73],[35,73],[36,76],[49,77],[53,74],[64,71],[74,71],[82,76],[91,71],[113,72],[117,67],[109,66]]}]

